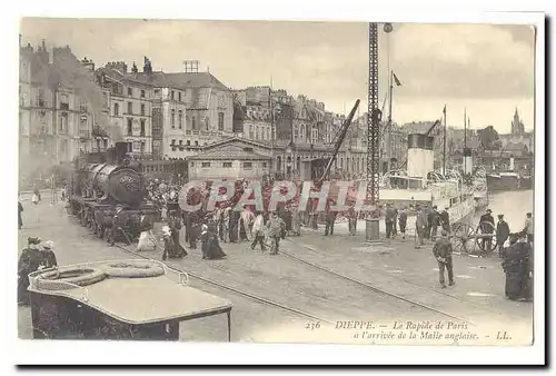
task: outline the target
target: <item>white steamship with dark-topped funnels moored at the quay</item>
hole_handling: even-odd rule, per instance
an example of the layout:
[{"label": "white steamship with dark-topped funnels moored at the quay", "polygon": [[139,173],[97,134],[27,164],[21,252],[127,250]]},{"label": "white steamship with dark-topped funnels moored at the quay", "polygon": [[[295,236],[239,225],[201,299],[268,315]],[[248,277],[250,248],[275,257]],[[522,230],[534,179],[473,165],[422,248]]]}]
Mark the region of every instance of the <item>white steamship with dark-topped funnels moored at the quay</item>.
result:
[{"label": "white steamship with dark-topped funnels moored at the quay", "polygon": [[[400,209],[415,206],[448,208],[451,222],[464,221],[488,202],[484,169],[473,171],[470,149],[464,150],[464,174],[434,169],[434,137],[408,136],[407,169],[386,174],[380,182],[380,202]],[[468,174],[465,174],[469,171]]]}]

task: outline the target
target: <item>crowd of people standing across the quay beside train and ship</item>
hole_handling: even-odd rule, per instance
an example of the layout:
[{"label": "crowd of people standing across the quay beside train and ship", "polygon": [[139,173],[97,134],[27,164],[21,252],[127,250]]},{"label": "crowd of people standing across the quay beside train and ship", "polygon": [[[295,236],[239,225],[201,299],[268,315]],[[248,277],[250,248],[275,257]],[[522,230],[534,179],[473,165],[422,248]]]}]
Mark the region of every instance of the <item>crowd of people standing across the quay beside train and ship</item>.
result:
[{"label": "crowd of people standing across the quay beside train and ship", "polygon": [[[338,214],[326,210],[318,214],[311,210],[298,210],[297,205],[278,205],[276,211],[258,211],[250,206],[242,210],[234,210],[231,206],[216,207],[212,211],[206,211],[202,207],[195,212],[181,211],[178,204],[180,186],[167,184],[163,180],[152,179],[148,181],[148,200],[155,204],[160,211],[160,218],[151,218],[139,212],[139,243],[138,250],[157,250],[162,248],[162,259],[181,258],[188,256],[188,251],[181,244],[180,232],[185,235],[185,244],[190,249],[201,246],[202,259],[221,259],[227,255],[221,244],[248,243],[251,249],[260,247],[261,251],[270,249],[270,255],[277,255],[280,240],[287,235],[301,234],[301,227],[318,229],[319,219],[325,221],[325,236],[334,235],[334,227]],[[33,205],[40,201],[40,192],[33,191]],[[23,208],[19,204],[19,228],[22,227],[21,214]],[[437,206],[404,207],[399,210],[387,204],[384,210],[386,225],[386,238],[395,238],[398,230],[401,238],[406,238],[406,228],[409,214],[415,214],[416,246],[424,246],[425,239],[434,243],[433,255],[438,263],[439,283],[446,288],[445,271],[448,275],[448,285],[455,285],[453,267],[453,244],[450,217],[448,208],[438,210]],[[348,220],[348,232],[354,236],[357,231],[357,212],[354,205],[344,214]],[[319,218],[320,216],[320,218]],[[116,215],[111,218],[111,227],[108,229],[108,241],[115,244],[118,230],[122,230],[125,214],[122,207],[118,206]],[[493,248],[493,236],[496,236],[496,248],[498,256],[503,259],[502,266],[506,274],[506,296],[509,299],[529,300],[532,298],[533,278],[533,215],[526,215],[525,225],[518,231],[510,231],[504,215],[497,216],[495,222],[493,212],[487,209],[480,216],[479,229],[483,236],[483,250],[486,254]],[[162,237],[159,243],[153,235],[153,222],[161,220]],[[111,232],[110,232],[111,229]],[[111,234],[111,236],[110,236]],[[492,236],[490,236],[492,235]],[[509,240],[509,244],[508,244]],[[29,281],[27,275],[44,267],[56,266],[56,256],[52,253],[51,243],[41,243],[38,238],[29,238],[28,247],[23,249],[18,269],[18,301],[24,304]]]}]

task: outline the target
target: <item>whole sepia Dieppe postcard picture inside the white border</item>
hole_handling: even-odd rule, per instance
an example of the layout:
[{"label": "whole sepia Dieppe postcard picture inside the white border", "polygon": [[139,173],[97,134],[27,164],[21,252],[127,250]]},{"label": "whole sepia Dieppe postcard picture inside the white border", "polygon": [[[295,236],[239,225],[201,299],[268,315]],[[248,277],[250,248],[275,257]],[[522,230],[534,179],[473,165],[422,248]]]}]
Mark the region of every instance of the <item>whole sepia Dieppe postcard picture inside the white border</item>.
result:
[{"label": "whole sepia Dieppe postcard picture inside the white border", "polygon": [[19,338],[533,346],[538,26],[386,21],[23,18]]}]

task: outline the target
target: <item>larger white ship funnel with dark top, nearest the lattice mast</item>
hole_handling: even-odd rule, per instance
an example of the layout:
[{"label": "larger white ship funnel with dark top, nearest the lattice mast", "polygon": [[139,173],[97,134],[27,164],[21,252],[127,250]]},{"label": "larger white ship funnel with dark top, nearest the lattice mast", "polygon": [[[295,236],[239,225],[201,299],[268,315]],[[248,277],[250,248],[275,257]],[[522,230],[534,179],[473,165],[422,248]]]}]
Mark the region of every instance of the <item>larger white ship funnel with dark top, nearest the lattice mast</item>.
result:
[{"label": "larger white ship funnel with dark top, nearest the lattice mast", "polygon": [[435,138],[421,133],[410,133],[407,137],[407,175],[413,178],[426,178],[434,170]]}]

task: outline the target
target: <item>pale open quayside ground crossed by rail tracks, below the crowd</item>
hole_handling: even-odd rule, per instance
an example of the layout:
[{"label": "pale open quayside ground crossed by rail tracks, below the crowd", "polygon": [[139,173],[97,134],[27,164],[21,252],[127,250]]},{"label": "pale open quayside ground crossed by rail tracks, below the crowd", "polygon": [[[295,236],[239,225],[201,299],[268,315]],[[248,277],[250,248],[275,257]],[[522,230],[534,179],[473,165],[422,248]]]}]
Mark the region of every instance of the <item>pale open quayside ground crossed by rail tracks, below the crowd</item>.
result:
[{"label": "pale open quayside ground crossed by rail tracks, below the crowd", "polygon": [[[19,231],[19,249],[24,246],[28,236],[39,236],[56,243],[60,265],[132,258],[119,248],[108,247],[105,241],[96,239],[67,216],[64,202],[51,205],[43,200],[39,205],[32,205],[23,198],[22,204],[23,229]],[[512,320],[530,327],[533,305],[504,298],[504,274],[498,258],[456,255],[456,286],[439,289],[438,268],[431,255],[431,243],[415,249],[413,240],[401,240],[398,237],[379,245],[366,246],[364,228],[361,221],[360,234],[354,237],[347,235],[347,224],[338,224],[336,234],[331,237],[304,229],[301,237],[287,238],[282,243],[282,249],[300,259],[467,320]],[[198,249],[189,250],[188,257],[171,263],[186,270],[195,270],[206,278],[226,281],[231,287],[318,314],[319,317],[446,319],[418,306],[377,295],[361,286],[318,271],[287,257],[286,253],[270,257],[268,253],[250,250],[246,243],[225,244],[222,248],[229,255],[226,260],[202,261]],[[160,259],[158,253],[145,255]],[[301,337],[297,333],[292,335],[291,330],[302,332],[308,323],[308,319],[288,311],[195,279],[191,285],[232,301],[232,340],[299,340]],[[30,337],[28,308],[19,308],[19,333],[22,338]],[[183,323],[180,326],[180,338],[224,340],[226,318],[217,316]]]}]

